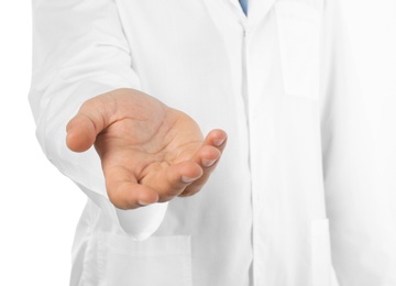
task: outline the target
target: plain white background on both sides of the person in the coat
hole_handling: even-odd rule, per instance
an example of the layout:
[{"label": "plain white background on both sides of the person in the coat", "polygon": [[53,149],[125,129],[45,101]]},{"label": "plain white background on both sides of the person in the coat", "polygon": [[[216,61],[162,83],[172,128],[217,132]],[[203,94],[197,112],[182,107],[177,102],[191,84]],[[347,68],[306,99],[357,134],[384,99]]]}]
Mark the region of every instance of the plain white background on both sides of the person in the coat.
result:
[{"label": "plain white background on both sides of the person in the coat", "polygon": [[[396,193],[396,1],[342,0],[385,187]],[[0,3],[0,285],[68,285],[85,196],[42,154],[28,103],[31,2]],[[393,179],[392,179],[393,178]]]}]

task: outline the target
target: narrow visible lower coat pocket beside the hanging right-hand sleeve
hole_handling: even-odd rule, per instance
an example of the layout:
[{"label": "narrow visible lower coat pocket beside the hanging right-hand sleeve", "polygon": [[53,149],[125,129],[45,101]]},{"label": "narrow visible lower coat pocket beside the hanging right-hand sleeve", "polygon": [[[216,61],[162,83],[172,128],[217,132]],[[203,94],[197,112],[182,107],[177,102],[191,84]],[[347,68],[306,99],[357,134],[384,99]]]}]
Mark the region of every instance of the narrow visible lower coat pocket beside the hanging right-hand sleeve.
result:
[{"label": "narrow visible lower coat pocket beside the hanging right-hand sleeve", "polygon": [[312,286],[331,286],[332,267],[329,220],[311,222],[311,280]]}]

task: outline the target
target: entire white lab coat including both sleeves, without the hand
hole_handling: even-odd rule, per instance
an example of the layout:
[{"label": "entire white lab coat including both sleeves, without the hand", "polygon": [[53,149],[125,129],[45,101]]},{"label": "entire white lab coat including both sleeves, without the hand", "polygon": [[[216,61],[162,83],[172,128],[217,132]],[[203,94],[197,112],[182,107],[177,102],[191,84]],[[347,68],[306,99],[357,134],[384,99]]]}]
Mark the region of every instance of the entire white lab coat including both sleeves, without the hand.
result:
[{"label": "entire white lab coat including both sleeves, without the hand", "polygon": [[[330,286],[332,266],[344,286],[396,285],[395,206],[336,2],[252,0],[246,19],[238,0],[33,0],[37,139],[88,196],[70,285]],[[117,88],[228,132],[198,195],[116,209],[95,150],[67,150],[67,121]]]}]

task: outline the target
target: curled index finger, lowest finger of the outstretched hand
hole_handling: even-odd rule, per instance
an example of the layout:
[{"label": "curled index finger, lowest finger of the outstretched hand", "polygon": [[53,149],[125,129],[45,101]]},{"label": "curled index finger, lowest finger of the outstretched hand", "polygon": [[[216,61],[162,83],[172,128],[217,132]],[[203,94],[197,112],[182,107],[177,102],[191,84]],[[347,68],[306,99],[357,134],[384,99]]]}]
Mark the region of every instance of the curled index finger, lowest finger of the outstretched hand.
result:
[{"label": "curled index finger, lowest finger of the outstretched hand", "polygon": [[158,201],[157,193],[140,185],[125,167],[106,168],[105,176],[109,199],[119,209],[135,209]]}]

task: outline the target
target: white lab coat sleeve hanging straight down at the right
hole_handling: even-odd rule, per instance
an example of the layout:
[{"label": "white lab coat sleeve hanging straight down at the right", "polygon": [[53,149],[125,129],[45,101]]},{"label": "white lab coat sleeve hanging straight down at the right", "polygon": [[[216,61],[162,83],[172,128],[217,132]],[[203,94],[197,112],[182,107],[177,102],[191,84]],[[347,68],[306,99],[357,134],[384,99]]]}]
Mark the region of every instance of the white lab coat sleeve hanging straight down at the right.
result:
[{"label": "white lab coat sleeve hanging straight down at the right", "polygon": [[396,204],[381,178],[370,108],[337,0],[326,1],[323,19],[321,140],[333,266],[340,285],[394,286]]}]

